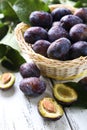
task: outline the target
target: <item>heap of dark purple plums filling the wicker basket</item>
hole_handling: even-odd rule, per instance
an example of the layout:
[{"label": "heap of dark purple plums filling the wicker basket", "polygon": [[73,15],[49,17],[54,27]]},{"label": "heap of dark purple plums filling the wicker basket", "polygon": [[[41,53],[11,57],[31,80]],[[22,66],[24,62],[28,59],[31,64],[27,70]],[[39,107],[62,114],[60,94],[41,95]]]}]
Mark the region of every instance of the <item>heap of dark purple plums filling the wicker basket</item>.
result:
[{"label": "heap of dark purple plums filling the wicker basket", "polygon": [[36,53],[58,60],[87,56],[87,8],[33,11],[29,21],[24,39]]}]

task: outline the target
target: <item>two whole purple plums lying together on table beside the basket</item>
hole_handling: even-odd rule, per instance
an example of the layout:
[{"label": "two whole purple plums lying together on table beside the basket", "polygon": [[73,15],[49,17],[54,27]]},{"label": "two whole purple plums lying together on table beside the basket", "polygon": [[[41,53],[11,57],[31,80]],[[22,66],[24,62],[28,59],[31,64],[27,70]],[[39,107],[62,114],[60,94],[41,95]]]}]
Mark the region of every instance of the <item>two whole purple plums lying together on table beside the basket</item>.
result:
[{"label": "two whole purple plums lying together on table beside the basket", "polygon": [[19,72],[23,79],[19,87],[28,96],[39,96],[46,89],[46,83],[40,78],[40,70],[34,62],[26,62],[20,66]]}]

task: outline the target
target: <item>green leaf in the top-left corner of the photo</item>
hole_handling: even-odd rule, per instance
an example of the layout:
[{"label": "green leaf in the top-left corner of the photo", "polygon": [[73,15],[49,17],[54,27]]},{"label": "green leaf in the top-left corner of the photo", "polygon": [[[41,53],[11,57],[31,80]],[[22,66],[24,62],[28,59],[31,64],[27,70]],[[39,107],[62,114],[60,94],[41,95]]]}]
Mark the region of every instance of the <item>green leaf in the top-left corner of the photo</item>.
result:
[{"label": "green leaf in the top-left corner of the photo", "polygon": [[6,20],[18,20],[15,11],[13,10],[11,4],[8,1],[4,0],[0,2],[0,10],[4,14]]}]

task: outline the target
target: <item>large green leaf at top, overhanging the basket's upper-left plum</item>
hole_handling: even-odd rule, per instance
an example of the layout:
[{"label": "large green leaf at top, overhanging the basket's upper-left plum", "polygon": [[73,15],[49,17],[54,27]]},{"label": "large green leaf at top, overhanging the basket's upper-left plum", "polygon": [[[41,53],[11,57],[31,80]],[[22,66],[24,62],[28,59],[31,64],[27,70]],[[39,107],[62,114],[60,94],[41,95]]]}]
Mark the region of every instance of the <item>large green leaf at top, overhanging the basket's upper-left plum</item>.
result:
[{"label": "large green leaf at top, overhanging the basket's upper-left plum", "polygon": [[19,19],[27,24],[29,24],[29,15],[32,11],[49,11],[48,6],[41,0],[17,0],[13,8]]}]

